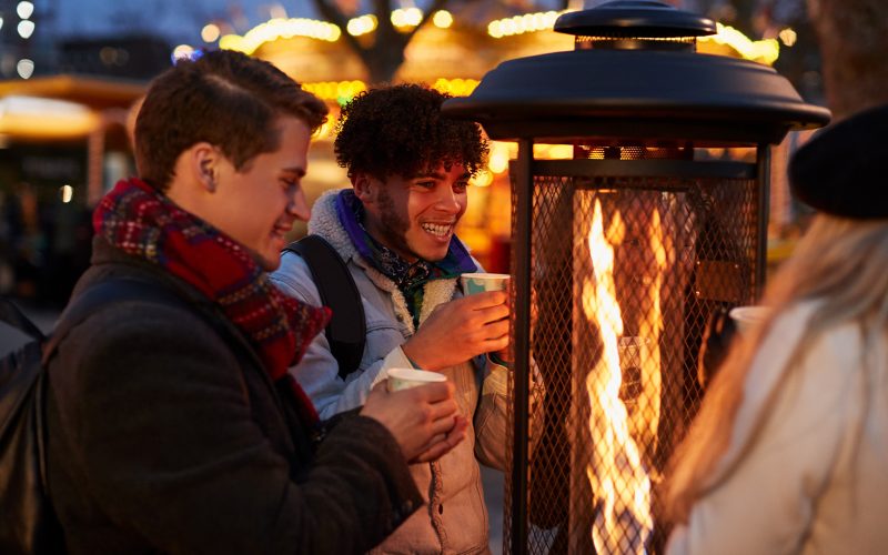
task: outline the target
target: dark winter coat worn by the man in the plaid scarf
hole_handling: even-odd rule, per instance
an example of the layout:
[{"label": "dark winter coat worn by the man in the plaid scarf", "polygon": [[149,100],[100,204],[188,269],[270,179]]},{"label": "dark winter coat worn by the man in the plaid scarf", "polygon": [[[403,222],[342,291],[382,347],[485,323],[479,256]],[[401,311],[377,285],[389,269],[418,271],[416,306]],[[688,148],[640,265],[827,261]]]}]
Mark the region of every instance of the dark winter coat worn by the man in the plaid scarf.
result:
[{"label": "dark winter coat worn by the man in the plaid scarf", "polygon": [[362,553],[422,506],[376,421],[347,414],[315,450],[186,283],[97,239],[74,295],[112,275],[185,302],[107,307],[50,363],[49,487],[72,553]]}]

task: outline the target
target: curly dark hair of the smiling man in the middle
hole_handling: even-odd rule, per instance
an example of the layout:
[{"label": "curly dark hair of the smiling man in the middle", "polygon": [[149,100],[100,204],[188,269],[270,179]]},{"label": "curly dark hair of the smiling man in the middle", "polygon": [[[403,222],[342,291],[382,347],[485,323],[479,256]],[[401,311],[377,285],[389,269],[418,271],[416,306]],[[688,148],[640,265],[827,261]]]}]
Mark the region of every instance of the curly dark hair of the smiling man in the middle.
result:
[{"label": "curly dark hair of the smiling man in the middle", "polygon": [[450,94],[420,84],[364,91],[342,108],[336,124],[336,161],[349,175],[384,180],[412,178],[440,165],[463,164],[475,174],[487,158],[487,142],[471,121],[441,115]]}]

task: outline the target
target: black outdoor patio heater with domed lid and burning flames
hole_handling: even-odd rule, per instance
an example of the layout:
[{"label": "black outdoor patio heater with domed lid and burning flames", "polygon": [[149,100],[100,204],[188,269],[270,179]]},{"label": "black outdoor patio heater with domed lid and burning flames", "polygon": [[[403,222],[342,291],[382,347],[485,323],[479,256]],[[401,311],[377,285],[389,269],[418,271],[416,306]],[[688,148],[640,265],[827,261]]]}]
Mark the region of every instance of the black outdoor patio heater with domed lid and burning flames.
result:
[{"label": "black outdoor patio heater with domed lid and burning flames", "polygon": [[703,395],[707,320],[764,284],[769,145],[830,114],[768,67],[696,53],[715,23],[658,1],[555,30],[575,50],[504,62],[444,105],[518,143],[504,548],[660,553],[657,485]]}]

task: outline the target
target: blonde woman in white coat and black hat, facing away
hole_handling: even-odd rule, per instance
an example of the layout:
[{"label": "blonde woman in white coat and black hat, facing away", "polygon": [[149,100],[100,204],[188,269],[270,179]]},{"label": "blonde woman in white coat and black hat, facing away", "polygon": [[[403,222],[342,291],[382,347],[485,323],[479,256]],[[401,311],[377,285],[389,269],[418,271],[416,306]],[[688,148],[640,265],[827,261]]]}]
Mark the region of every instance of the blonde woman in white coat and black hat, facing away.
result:
[{"label": "blonde woman in white coat and black hat, facing away", "polygon": [[673,460],[669,554],[888,549],[888,105],[790,164],[818,209]]}]

